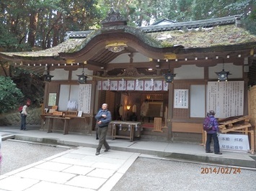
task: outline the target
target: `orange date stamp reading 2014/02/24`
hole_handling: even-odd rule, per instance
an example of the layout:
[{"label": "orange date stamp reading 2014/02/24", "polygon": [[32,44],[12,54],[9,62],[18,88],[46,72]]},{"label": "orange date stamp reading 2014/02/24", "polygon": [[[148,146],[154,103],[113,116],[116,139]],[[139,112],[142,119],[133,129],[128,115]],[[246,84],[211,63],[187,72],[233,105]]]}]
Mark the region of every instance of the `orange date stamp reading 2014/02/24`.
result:
[{"label": "orange date stamp reading 2014/02/24", "polygon": [[240,174],[241,169],[237,167],[201,167],[201,174]]}]

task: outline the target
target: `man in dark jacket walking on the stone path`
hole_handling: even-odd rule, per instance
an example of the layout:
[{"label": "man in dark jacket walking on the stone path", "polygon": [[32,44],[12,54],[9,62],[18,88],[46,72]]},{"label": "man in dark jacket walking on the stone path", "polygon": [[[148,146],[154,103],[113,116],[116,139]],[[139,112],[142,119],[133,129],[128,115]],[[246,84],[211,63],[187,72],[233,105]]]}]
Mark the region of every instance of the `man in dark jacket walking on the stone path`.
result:
[{"label": "man in dark jacket walking on the stone path", "polygon": [[107,144],[106,136],[107,136],[107,128],[108,124],[112,120],[110,111],[107,110],[107,103],[102,104],[102,109],[95,116],[98,125],[98,136],[99,136],[99,144],[97,146],[96,155],[100,154],[100,149],[102,145],[105,146],[105,152],[110,150],[110,146]]}]

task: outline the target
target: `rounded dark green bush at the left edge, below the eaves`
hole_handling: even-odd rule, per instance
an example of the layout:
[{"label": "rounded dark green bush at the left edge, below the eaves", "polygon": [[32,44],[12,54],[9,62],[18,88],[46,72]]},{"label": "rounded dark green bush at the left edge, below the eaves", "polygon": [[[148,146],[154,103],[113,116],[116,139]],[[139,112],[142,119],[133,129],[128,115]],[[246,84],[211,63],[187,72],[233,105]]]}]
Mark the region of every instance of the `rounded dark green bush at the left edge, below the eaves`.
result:
[{"label": "rounded dark green bush at the left edge, below the eaves", "polygon": [[0,76],[0,113],[17,109],[23,97],[11,78]]}]

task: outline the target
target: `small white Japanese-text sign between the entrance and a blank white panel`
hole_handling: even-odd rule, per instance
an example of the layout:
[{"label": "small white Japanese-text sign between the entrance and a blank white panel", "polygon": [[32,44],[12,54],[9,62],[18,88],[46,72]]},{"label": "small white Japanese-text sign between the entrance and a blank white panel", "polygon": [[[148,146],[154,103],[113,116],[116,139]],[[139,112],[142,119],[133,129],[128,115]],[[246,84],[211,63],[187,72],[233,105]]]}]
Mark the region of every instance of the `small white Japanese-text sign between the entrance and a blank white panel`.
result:
[{"label": "small white Japanese-text sign between the entrance and a blank white panel", "polygon": [[188,90],[175,89],[174,108],[188,108]]}]

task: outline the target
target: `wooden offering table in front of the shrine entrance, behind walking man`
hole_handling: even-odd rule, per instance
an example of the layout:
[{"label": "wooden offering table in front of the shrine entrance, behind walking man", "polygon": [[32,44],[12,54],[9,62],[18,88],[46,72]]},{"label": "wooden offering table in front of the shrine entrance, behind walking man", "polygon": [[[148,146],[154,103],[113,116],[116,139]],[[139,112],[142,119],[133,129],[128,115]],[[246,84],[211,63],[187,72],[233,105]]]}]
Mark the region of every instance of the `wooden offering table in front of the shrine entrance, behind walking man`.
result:
[{"label": "wooden offering table in front of the shrine entrance, behind walking man", "polygon": [[[130,141],[133,141],[135,131],[138,131],[139,135],[141,134],[141,122],[111,121],[110,124],[112,126],[112,140],[114,140],[115,138],[123,138],[123,139],[130,139]],[[118,135],[117,128],[128,129],[128,131],[130,131],[130,134],[128,136]]]}]

